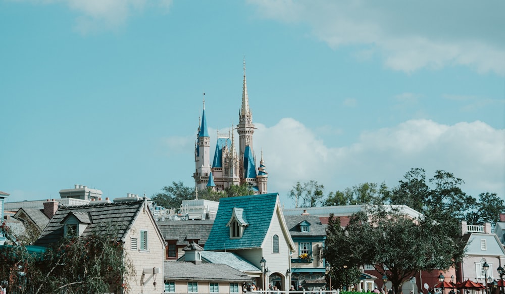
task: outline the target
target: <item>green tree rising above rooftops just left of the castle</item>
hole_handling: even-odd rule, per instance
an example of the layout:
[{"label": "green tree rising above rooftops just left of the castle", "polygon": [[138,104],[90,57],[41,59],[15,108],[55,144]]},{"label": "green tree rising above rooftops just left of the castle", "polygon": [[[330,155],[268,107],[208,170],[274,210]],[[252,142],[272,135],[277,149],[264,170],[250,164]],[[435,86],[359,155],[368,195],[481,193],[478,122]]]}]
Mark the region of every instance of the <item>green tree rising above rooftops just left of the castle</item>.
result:
[{"label": "green tree rising above rooftops just left of the castle", "polygon": [[194,188],[184,186],[182,181],[174,181],[172,185],[165,186],[162,190],[162,193],[154,195],[153,203],[166,209],[179,208],[183,200],[195,199]]}]

